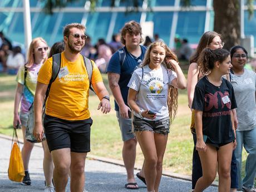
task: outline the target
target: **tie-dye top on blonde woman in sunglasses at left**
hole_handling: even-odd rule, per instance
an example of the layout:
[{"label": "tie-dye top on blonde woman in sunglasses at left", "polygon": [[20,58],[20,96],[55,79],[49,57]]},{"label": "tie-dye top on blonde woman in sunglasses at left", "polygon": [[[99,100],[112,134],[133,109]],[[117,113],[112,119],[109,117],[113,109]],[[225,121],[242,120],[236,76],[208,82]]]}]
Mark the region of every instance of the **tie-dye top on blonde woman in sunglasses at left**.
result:
[{"label": "tie-dye top on blonde woman in sunglasses at left", "polygon": [[[28,113],[28,109],[31,107],[37,83],[37,74],[42,64],[33,64],[32,67],[27,69],[26,84],[23,87],[21,98],[21,112]],[[20,67],[17,73],[16,81],[24,85],[24,66]]]}]

